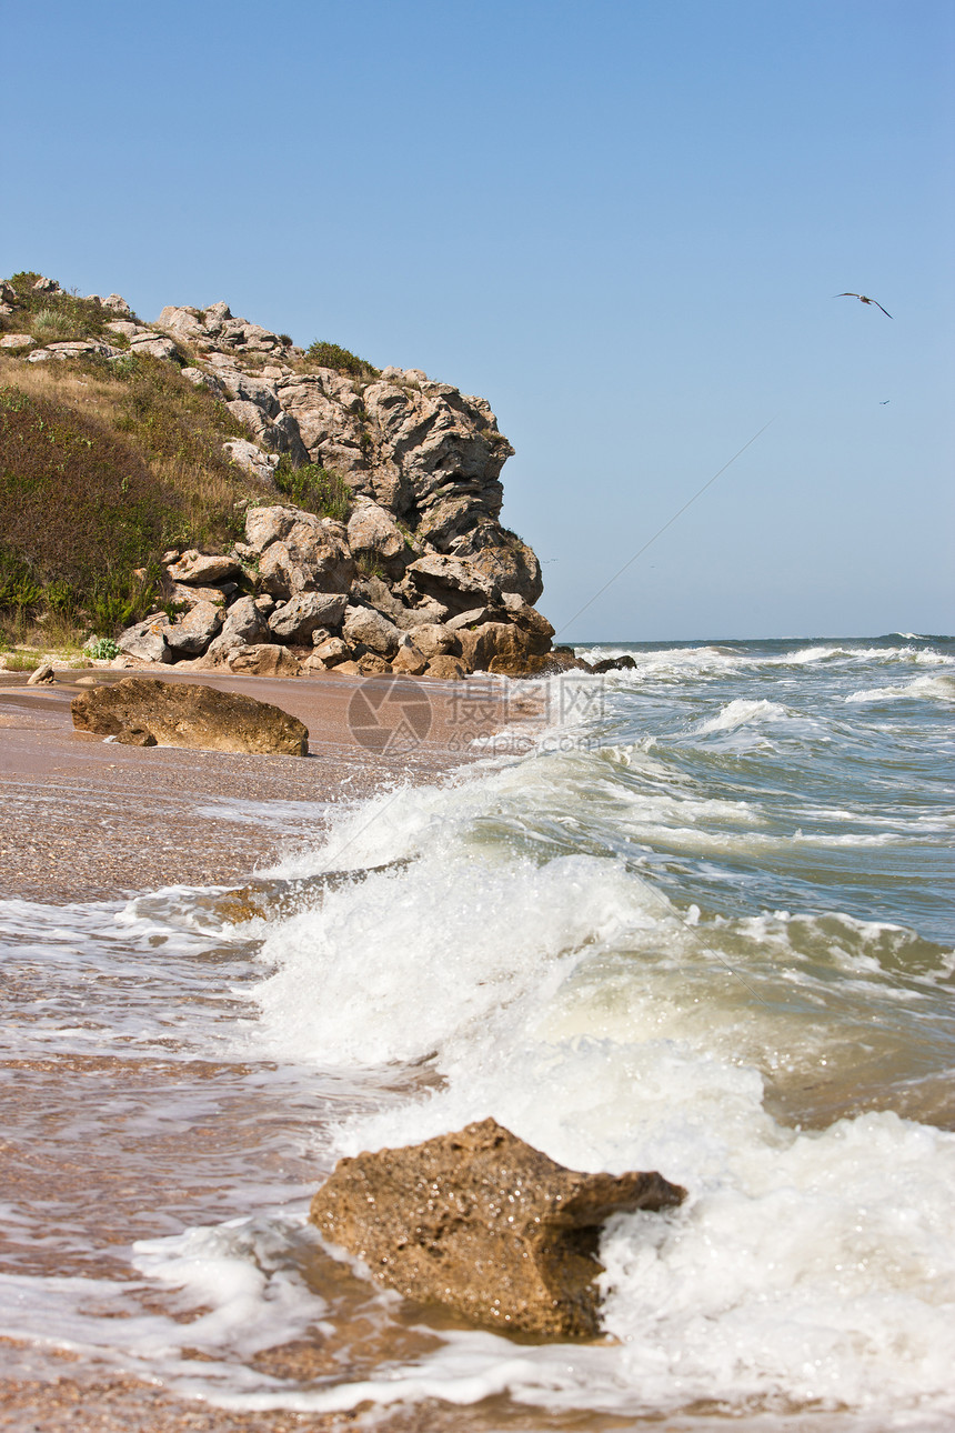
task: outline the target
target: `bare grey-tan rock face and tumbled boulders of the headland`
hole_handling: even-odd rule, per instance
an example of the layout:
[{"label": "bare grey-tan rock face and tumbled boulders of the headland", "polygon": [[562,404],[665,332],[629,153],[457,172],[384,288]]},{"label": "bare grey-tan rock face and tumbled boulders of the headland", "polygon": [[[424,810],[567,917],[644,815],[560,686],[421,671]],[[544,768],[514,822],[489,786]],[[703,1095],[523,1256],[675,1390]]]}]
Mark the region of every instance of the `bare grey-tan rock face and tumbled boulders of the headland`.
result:
[{"label": "bare grey-tan rock face and tumbled boulders of the headland", "polygon": [[[62,294],[30,278],[34,292]],[[222,444],[258,490],[241,504],[243,540],[169,547],[153,610],[119,636],[126,653],[235,671],[457,676],[547,665],[540,563],[500,523],[513,449],[484,398],[420,370],[378,371],[331,344],[306,353],[223,302],[163,308],[150,324],[116,294],[87,295],[74,304],[102,315],[94,331],[40,341],[36,324],[17,332],[30,310],[19,279],[0,285],[9,355],[172,364],[248,434]],[[331,500],[315,502],[322,494]]]}]

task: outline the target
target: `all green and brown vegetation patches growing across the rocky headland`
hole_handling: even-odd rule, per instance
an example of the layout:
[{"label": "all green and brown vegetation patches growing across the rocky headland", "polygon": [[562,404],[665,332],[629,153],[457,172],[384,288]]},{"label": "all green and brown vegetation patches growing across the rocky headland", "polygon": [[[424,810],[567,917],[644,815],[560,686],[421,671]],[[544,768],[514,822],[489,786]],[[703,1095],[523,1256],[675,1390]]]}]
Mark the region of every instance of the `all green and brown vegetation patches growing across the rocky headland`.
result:
[{"label": "all green and brown vegetation patches growing across the rocky headland", "polygon": [[[23,271],[4,281],[13,311],[0,315],[0,332],[127,350],[107,328],[112,310],[36,289],[40,277]],[[182,344],[179,363],[189,354]],[[243,355],[249,371],[269,361]],[[308,364],[362,383],[378,377],[338,344],[312,344]],[[79,645],[93,631],[93,655],[116,655],[113,636],[163,606],[162,553],[228,550],[243,535],[243,509],[263,500],[261,481],[223,451],[232,437],[255,434],[176,363],[89,353],[30,364],[0,350],[0,648],[49,648],[54,635],[59,645]],[[371,444],[367,431],[362,444]],[[352,490],[339,473],[295,470],[285,456],[275,481],[279,502],[348,519]],[[249,573],[249,590],[252,580]]]}]

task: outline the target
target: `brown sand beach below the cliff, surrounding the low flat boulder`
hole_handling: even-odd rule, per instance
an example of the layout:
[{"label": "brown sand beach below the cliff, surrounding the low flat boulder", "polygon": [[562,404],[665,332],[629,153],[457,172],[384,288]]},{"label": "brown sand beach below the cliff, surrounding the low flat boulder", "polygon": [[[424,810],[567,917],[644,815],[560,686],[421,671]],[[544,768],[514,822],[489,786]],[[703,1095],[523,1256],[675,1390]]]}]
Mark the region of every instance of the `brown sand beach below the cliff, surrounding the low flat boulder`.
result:
[{"label": "brown sand beach below the cliff, surrounding the low flat boulder", "polygon": [[[273,864],[295,840],[314,840],[315,823],[336,802],[392,782],[428,782],[480,759],[470,737],[480,728],[490,735],[514,715],[500,678],[405,678],[418,701],[427,698],[428,729],[411,748],[372,751],[362,744],[368,735],[349,728],[349,702],[359,688],[378,699],[389,678],[176,675],[168,666],[135,675],[281,706],[309,728],[309,755],[119,745],[73,729],[70,701],[86,684],[59,672],[52,685],[27,686],[0,674],[0,898],[105,900],[163,886],[233,884]],[[269,821],[271,802],[282,802],[285,820]]]}]

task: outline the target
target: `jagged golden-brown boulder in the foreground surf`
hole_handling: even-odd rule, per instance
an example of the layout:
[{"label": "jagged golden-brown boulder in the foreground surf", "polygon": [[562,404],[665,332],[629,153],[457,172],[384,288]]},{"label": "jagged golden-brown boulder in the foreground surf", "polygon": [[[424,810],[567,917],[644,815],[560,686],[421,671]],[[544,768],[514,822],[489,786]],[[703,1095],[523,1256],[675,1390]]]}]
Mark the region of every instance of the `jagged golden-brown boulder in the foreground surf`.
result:
[{"label": "jagged golden-brown boulder in the foreground surf", "polygon": [[684,1197],[659,1174],[566,1169],[484,1119],[341,1159],[309,1218],[407,1298],[498,1333],[596,1338],[603,1221]]}]

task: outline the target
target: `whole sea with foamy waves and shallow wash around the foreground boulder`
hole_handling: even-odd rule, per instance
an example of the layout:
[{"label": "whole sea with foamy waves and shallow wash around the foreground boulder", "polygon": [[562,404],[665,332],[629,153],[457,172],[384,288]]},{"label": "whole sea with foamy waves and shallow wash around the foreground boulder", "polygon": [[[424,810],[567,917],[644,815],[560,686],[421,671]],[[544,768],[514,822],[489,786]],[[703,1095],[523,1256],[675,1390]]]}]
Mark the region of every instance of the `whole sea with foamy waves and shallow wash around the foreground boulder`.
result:
[{"label": "whole sea with foamy waves and shallow wash around the foreground boulder", "polygon": [[[430,784],[249,804],[253,907],[0,903],[0,1333],[368,1427],[955,1427],[955,641],[577,653],[633,666],[491,682]],[[308,1224],[339,1156],[490,1115],[687,1189],[607,1222],[594,1343]]]}]

